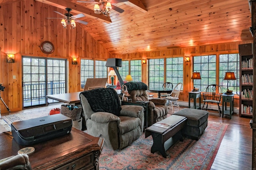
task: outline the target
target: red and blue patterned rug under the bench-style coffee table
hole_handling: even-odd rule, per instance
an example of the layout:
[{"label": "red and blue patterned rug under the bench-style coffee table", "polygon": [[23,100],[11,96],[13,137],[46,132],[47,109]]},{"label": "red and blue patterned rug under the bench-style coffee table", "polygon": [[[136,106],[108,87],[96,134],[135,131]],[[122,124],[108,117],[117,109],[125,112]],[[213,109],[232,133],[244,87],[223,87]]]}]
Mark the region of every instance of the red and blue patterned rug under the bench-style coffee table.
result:
[{"label": "red and blue patterned rug under the bench-style coffee table", "polygon": [[152,137],[143,135],[122,150],[104,148],[100,170],[208,170],[219,149],[228,125],[208,121],[198,141],[185,138],[167,150],[167,158],[150,152]]}]

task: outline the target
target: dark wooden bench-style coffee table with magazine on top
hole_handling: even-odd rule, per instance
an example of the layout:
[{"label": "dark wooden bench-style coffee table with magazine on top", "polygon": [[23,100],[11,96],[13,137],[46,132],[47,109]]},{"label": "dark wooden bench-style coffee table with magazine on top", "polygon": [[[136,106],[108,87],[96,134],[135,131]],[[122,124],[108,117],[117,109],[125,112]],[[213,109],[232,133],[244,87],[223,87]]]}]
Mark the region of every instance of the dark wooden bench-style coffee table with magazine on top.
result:
[{"label": "dark wooden bench-style coffee table with magazine on top", "polygon": [[152,135],[153,145],[151,153],[160,152],[166,158],[166,150],[168,150],[178,139],[183,141],[181,130],[186,125],[187,118],[184,116],[170,115],[160,123],[171,125],[167,129],[152,125],[145,130],[145,138]]}]

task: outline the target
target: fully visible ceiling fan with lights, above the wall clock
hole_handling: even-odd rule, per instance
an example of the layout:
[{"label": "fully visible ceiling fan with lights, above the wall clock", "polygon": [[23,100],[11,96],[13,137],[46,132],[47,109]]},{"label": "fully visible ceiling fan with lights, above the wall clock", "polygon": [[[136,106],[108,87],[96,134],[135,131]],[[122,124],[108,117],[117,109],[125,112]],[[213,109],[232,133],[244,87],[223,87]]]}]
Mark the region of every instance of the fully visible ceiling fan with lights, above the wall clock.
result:
[{"label": "fully visible ceiling fan with lights, above the wall clock", "polygon": [[58,12],[58,11],[54,11],[54,12],[56,12],[57,14],[60,14],[61,16],[63,16],[64,18],[47,18],[47,19],[62,19],[62,20],[61,20],[61,23],[62,23],[62,26],[63,26],[64,28],[66,28],[67,25],[71,25],[72,28],[75,28],[75,27],[76,27],[76,22],[82,23],[82,24],[84,24],[84,25],[87,25],[87,24],[88,24],[88,22],[86,22],[86,21],[77,20],[77,18],[85,17],[84,14],[73,15],[73,14],[70,14],[70,11],[71,11],[72,9],[66,8],[66,10],[68,11],[68,13],[65,13],[65,14],[61,14],[61,13]]}]

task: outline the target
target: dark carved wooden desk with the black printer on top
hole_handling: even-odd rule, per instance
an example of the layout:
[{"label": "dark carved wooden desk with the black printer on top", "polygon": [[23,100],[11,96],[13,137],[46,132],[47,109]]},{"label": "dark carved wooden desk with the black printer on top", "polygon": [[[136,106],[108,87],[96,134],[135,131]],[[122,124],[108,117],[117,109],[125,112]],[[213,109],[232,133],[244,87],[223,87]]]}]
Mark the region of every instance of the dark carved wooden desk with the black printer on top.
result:
[{"label": "dark carved wooden desk with the black printer on top", "polygon": [[29,146],[19,145],[12,133],[0,133],[0,143],[0,159],[17,155],[22,148],[34,147],[34,153],[28,156],[35,170],[98,170],[104,139],[72,128],[67,135]]}]

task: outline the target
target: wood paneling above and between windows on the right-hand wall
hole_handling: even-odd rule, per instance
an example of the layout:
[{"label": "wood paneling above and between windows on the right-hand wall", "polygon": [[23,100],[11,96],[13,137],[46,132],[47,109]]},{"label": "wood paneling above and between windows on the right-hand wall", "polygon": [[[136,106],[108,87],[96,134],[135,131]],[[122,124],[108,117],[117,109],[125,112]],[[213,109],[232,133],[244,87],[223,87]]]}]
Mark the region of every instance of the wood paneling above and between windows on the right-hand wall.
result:
[{"label": "wood paneling above and between windows on the right-hand wall", "polygon": [[[183,91],[180,93],[180,100],[188,102],[188,92],[193,88],[192,84],[192,58],[193,56],[198,55],[220,55],[220,54],[231,54],[238,53],[238,45],[244,43],[252,43],[252,41],[244,42],[235,42],[235,43],[225,43],[225,44],[215,44],[215,45],[204,45],[188,48],[177,48],[177,49],[168,49],[162,51],[147,51],[141,53],[132,53],[132,54],[122,54],[114,55],[114,58],[132,60],[132,59],[156,59],[156,58],[169,58],[169,57],[190,57],[190,62],[184,62],[184,72],[183,72]],[[142,81],[148,84],[148,62],[142,64]],[[157,96],[157,94],[154,94]],[[202,102],[202,97],[201,97]],[[234,107],[239,107],[239,96],[234,97]]]}]

